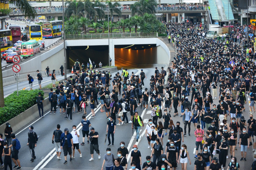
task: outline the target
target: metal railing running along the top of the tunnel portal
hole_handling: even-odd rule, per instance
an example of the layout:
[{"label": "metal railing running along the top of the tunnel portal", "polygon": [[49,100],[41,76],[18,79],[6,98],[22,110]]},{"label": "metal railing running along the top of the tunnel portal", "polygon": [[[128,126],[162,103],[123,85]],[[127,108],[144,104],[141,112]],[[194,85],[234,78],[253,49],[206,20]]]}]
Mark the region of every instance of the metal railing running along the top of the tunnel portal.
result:
[{"label": "metal railing running along the top of the tunnel portal", "polygon": [[[141,38],[141,37],[158,37],[158,33],[110,33],[110,38]],[[70,34],[65,36],[66,39],[97,39],[108,38],[108,34]]]}]

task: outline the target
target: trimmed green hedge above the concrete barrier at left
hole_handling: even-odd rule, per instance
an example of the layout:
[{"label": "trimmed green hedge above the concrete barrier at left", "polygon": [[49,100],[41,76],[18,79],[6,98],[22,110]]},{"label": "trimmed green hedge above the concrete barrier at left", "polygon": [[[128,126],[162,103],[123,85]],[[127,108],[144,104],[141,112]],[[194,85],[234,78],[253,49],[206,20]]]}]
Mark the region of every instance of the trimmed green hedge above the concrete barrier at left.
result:
[{"label": "trimmed green hedge above the concrete barrier at left", "polygon": [[0,108],[0,125],[36,104],[38,92],[44,96],[42,90],[20,90],[18,96],[17,91],[14,91],[6,97],[5,107]]}]

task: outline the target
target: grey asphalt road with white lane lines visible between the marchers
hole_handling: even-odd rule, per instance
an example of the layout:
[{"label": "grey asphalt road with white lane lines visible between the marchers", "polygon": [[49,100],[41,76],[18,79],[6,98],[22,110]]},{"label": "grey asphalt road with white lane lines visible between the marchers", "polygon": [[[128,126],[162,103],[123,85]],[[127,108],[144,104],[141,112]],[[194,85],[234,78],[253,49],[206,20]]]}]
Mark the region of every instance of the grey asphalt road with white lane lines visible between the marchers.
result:
[{"label": "grey asphalt road with white lane lines visible between the marchers", "polygon": [[[143,69],[146,76],[148,77],[148,80],[145,79],[145,87],[149,89],[149,78],[151,75],[154,74],[155,69]],[[133,71],[134,73],[139,73],[138,70],[128,70],[129,73]],[[27,82],[26,82],[27,83]],[[25,87],[25,86],[24,86]],[[23,87],[23,88],[24,88]],[[110,88],[111,89],[111,88]],[[190,96],[189,96],[190,98]],[[214,104],[218,104],[218,100],[213,100]],[[247,120],[249,117],[248,113],[248,104],[245,105],[246,112],[244,112],[245,119]],[[19,159],[21,162],[21,167],[26,170],[37,170],[37,169],[84,169],[84,170],[100,170],[102,163],[103,163],[103,157],[104,154],[106,154],[106,148],[107,145],[104,145],[105,140],[105,134],[106,134],[106,126],[107,126],[107,120],[106,120],[106,114],[105,112],[101,113],[98,109],[95,109],[96,117],[91,118],[90,109],[87,107],[87,118],[90,119],[91,126],[95,128],[95,130],[99,133],[99,150],[101,153],[101,159],[98,160],[98,157],[96,153],[94,152],[94,161],[88,161],[90,159],[90,144],[85,144],[84,146],[80,146],[82,152],[82,158],[79,158],[78,151],[75,152],[75,159],[70,162],[68,160],[68,164],[64,163],[64,156],[63,153],[61,154],[62,160],[58,160],[56,158],[56,152],[55,147],[52,144],[52,134],[53,131],[56,129],[56,125],[61,125],[61,130],[64,131],[64,128],[69,128],[72,130],[72,125],[77,125],[78,130],[80,134],[82,134],[80,122],[82,120],[82,114],[83,113],[73,113],[73,119],[72,121],[64,119],[64,114],[48,114],[49,110],[44,110],[44,115],[46,115],[44,118],[41,119],[35,119],[34,121],[28,123],[23,129],[20,129],[17,134],[17,138],[21,142],[21,149],[19,152]],[[149,109],[150,110],[150,109]],[[181,108],[178,107],[178,111],[180,113]],[[146,112],[146,110],[140,110],[140,107],[138,107],[139,115],[142,117],[144,124],[146,126],[148,119],[151,118],[150,112]],[[57,109],[58,113],[58,109]],[[171,115],[174,115],[174,110],[171,110]],[[39,116],[39,115],[38,115]],[[130,115],[128,114],[128,119],[130,118]],[[182,118],[180,116],[172,117],[172,120],[176,124],[177,121],[181,122],[181,127],[184,127],[184,124],[182,123]],[[163,119],[158,119],[158,121],[162,121]],[[230,123],[230,120],[228,120],[228,123]],[[28,127],[29,125],[34,126],[34,131],[37,132],[37,134],[40,136],[38,139],[38,145],[35,148],[35,155],[36,159],[33,163],[30,162],[31,156],[29,152],[28,146],[26,146],[27,143],[27,133],[28,133]],[[188,164],[187,169],[191,170],[194,169],[194,162],[195,162],[195,137],[194,137],[194,126],[191,125],[191,136],[184,137],[184,143],[187,145],[187,150],[189,151],[191,165]],[[142,155],[142,163],[146,161],[145,157],[147,155],[151,155],[150,149],[148,149],[148,143],[145,137],[145,127],[141,128],[140,131],[140,139],[138,142],[136,142],[135,132],[132,134],[131,130],[131,124],[123,124],[122,126],[116,127],[116,133],[114,134],[115,140],[114,140],[114,146],[110,146],[111,152],[114,154],[114,157],[117,157],[117,148],[120,147],[119,143],[121,141],[125,142],[125,147],[128,148],[129,153],[131,152],[132,146],[134,144],[138,145],[139,151]],[[82,142],[82,135],[79,139],[79,143]],[[163,139],[163,148],[165,151],[165,145],[167,142],[167,136],[164,136]],[[108,143],[108,142],[106,142]],[[182,143],[183,144],[183,143]],[[240,164],[240,169],[249,169],[251,166],[251,163],[253,162],[252,158],[252,148],[248,149],[247,152],[247,162],[245,161],[239,161],[241,158],[240,149],[239,146],[237,146],[238,150],[235,152],[235,156],[238,159],[238,163]],[[218,155],[217,155],[218,157]],[[229,154],[230,157],[230,154]],[[130,155],[128,156],[130,158]],[[152,159],[151,159],[152,160]],[[227,164],[229,164],[230,158],[227,159]],[[130,160],[128,162],[128,169],[130,169]],[[104,168],[105,169],[105,168]],[[177,169],[181,169],[181,165],[178,164]]]}]

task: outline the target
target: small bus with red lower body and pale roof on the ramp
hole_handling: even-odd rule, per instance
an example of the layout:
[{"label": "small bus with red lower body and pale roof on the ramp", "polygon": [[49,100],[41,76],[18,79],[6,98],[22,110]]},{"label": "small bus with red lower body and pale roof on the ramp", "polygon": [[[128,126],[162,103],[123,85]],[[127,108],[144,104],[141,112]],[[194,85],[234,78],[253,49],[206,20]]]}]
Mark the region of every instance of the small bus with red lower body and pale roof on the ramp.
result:
[{"label": "small bus with red lower body and pale roof on the ramp", "polygon": [[29,40],[21,44],[21,57],[25,57],[28,55],[37,54],[40,51],[40,46],[37,40]]}]

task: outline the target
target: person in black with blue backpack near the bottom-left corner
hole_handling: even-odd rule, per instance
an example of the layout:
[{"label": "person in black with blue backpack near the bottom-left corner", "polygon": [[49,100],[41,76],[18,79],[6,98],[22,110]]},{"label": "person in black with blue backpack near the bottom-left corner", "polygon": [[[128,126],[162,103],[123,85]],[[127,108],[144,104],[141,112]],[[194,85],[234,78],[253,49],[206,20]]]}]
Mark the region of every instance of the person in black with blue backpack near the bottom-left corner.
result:
[{"label": "person in black with blue backpack near the bottom-left corner", "polygon": [[14,133],[11,134],[11,137],[12,137],[12,144],[9,146],[9,148],[12,148],[11,158],[15,164],[13,169],[21,169],[20,160],[18,158],[18,153],[19,153],[19,149],[20,149],[20,141],[18,139],[16,139]]}]

